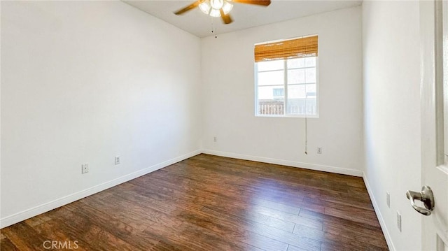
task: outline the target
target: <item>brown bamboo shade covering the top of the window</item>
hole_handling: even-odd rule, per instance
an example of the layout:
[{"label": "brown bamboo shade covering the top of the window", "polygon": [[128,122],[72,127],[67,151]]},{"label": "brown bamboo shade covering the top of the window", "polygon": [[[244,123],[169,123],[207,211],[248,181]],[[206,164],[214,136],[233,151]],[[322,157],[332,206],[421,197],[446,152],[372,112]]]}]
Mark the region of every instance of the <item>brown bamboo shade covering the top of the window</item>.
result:
[{"label": "brown bamboo shade covering the top of the window", "polygon": [[255,62],[317,57],[317,36],[255,45]]}]

